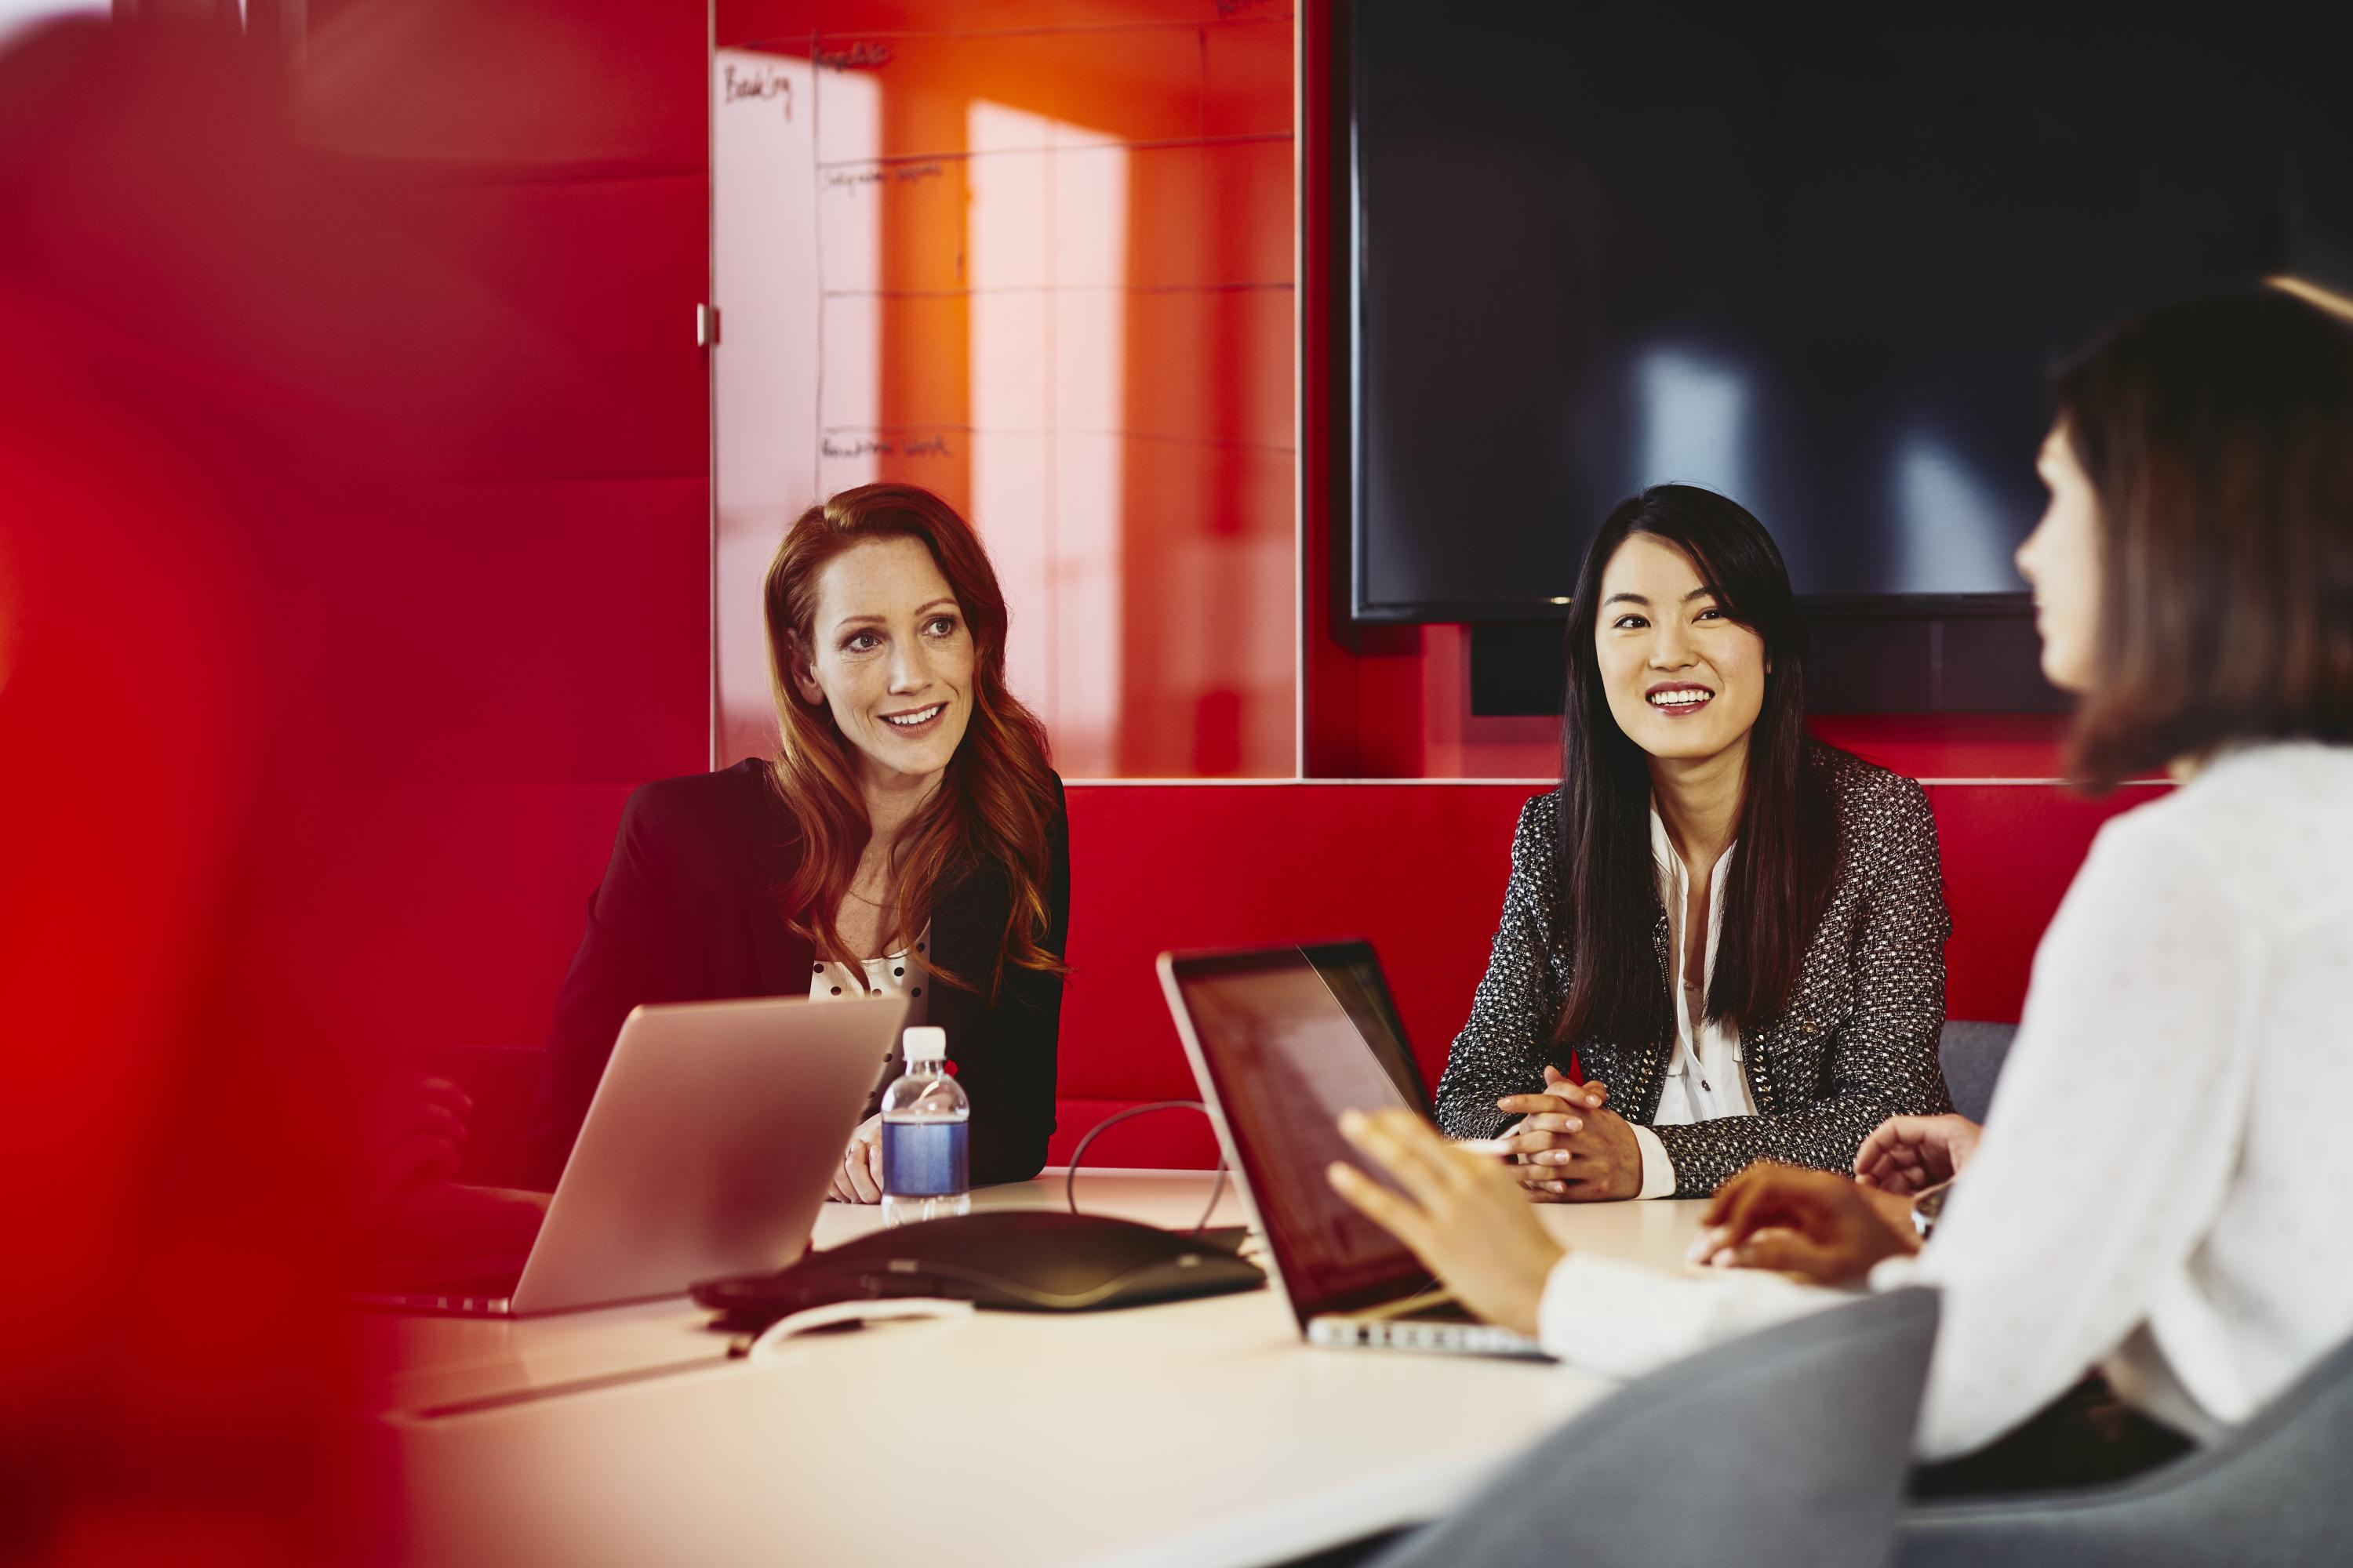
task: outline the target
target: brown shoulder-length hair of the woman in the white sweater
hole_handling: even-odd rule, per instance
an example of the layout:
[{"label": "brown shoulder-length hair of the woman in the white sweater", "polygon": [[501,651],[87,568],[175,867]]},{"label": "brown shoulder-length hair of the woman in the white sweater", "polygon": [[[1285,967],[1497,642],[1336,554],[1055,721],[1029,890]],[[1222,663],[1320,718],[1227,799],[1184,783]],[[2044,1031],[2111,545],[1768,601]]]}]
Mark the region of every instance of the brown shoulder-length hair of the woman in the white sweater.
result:
[{"label": "brown shoulder-length hair of the woman in the white sweater", "polygon": [[2071,773],[2353,741],[2353,331],[2282,292],[2134,317],[2054,378],[2101,531]]}]

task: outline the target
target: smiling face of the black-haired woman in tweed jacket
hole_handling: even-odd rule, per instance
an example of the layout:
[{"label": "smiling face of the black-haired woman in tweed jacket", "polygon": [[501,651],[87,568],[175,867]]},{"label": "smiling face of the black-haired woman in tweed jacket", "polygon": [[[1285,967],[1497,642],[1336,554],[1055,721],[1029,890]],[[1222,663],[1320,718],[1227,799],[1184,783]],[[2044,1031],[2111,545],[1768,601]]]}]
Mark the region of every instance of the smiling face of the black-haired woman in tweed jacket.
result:
[{"label": "smiling face of the black-haired woman in tweed jacket", "polygon": [[1609,717],[1652,757],[1718,757],[1765,708],[1765,639],[1727,616],[1675,545],[1635,534],[1602,571],[1593,651]]}]

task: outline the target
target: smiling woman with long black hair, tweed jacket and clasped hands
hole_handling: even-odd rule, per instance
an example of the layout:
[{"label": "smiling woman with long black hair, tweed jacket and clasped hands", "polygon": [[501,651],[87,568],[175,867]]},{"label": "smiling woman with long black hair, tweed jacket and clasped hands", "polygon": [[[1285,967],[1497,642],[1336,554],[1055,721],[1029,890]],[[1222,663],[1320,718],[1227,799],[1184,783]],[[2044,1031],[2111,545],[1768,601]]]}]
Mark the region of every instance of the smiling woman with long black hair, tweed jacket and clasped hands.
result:
[{"label": "smiling woman with long black hair, tweed jacket and clasped hands", "polygon": [[1845,1171],[1882,1119],[1948,1110],[1937,823],[1807,733],[1805,621],[1734,501],[1661,484],[1602,522],[1560,778],[1513,837],[1445,1131],[1522,1117],[1539,1201],[1704,1197],[1760,1157]]}]

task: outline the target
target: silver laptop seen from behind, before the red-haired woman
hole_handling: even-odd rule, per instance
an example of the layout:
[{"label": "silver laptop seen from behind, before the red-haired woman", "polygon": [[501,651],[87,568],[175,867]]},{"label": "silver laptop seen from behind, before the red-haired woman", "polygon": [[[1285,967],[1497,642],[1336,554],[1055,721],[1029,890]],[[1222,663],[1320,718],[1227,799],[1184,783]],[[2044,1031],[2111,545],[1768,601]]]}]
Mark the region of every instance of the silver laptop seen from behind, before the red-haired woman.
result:
[{"label": "silver laptop seen from behind, before the red-haired woman", "polygon": [[901,1023],[906,997],[631,1011],[522,1265],[360,1305],[522,1316],[786,1267]]}]

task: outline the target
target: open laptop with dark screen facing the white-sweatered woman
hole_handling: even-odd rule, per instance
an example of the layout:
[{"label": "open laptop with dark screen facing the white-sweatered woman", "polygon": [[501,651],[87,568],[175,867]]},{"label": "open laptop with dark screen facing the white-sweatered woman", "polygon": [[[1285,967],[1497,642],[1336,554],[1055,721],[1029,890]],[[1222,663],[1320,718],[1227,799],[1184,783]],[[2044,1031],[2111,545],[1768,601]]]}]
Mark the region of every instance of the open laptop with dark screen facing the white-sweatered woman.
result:
[{"label": "open laptop with dark screen facing the white-sweatered woman", "polygon": [[1308,1342],[1551,1359],[1527,1335],[1471,1316],[1325,1180],[1334,1159],[1362,1166],[1339,1133],[1344,1110],[1428,1114],[1367,943],[1162,952],[1160,990]]}]

